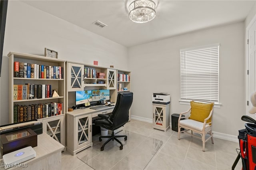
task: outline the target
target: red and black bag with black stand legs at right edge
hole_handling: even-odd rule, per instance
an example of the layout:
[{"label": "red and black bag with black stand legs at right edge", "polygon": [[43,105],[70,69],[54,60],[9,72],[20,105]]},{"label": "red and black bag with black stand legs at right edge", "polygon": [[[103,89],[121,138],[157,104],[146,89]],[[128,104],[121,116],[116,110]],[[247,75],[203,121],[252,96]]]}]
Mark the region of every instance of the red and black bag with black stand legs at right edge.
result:
[{"label": "red and black bag with black stand legs at right edge", "polygon": [[238,140],[240,151],[232,166],[232,170],[236,167],[239,159],[242,159],[242,170],[256,170],[256,120],[249,116],[242,116],[243,121],[249,122],[245,124],[245,129],[238,130]]}]

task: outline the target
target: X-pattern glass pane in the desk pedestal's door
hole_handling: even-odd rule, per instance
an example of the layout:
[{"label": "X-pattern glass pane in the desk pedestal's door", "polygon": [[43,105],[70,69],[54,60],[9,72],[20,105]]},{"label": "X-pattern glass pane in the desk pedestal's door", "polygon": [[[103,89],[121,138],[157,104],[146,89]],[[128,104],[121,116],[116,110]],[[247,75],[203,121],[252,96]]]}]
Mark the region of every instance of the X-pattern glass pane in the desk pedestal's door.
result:
[{"label": "X-pattern glass pane in the desk pedestal's door", "polygon": [[78,146],[89,141],[89,119],[88,117],[78,119]]}]

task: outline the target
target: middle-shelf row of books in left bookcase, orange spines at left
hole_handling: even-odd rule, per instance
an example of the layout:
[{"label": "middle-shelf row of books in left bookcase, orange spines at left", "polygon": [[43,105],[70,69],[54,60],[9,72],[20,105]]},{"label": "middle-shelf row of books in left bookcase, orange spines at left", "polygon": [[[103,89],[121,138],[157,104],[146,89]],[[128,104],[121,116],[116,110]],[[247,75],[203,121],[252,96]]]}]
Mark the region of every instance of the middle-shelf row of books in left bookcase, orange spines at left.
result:
[{"label": "middle-shelf row of books in left bookcase, orange spines at left", "polygon": [[52,85],[13,85],[13,100],[44,99],[52,97]]}]

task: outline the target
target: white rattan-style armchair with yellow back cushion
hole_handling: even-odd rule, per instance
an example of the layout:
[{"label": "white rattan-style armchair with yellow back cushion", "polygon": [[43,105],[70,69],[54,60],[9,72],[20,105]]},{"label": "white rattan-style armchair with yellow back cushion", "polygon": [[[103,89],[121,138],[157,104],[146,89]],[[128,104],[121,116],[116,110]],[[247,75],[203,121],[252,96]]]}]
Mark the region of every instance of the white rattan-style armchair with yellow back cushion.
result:
[{"label": "white rattan-style armchair with yellow back cushion", "polygon": [[[205,151],[205,142],[208,141],[210,138],[212,139],[213,144],[213,108],[213,102],[191,101],[190,109],[186,112],[180,113],[180,117],[178,119],[178,140],[180,140],[180,129],[184,128],[182,132],[186,132],[202,140],[203,151]],[[185,115],[185,119],[184,117],[182,117],[182,115]],[[200,134],[201,137],[194,135],[193,132]],[[206,138],[206,134],[210,134],[210,136]]]}]

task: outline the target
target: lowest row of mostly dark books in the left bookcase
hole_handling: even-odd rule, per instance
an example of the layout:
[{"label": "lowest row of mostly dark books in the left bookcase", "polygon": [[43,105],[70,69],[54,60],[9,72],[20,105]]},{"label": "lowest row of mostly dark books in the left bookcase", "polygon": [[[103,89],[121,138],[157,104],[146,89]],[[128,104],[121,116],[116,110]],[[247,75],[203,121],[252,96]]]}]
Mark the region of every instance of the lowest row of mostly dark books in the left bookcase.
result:
[{"label": "lowest row of mostly dark books in the left bookcase", "polygon": [[63,103],[45,103],[35,105],[14,105],[13,122],[42,119],[62,114]]}]

